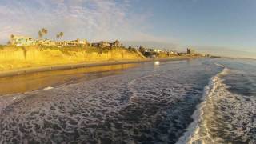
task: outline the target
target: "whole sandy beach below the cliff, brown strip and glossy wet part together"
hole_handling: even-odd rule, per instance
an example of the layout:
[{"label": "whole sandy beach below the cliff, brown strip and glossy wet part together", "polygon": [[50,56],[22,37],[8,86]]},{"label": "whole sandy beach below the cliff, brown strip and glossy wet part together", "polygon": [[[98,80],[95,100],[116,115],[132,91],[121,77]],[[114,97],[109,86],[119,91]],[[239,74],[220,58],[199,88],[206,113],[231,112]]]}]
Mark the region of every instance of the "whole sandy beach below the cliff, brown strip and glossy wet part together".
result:
[{"label": "whole sandy beach below the cliff, brown strip and glossy wet part together", "polygon": [[[120,71],[146,62],[178,61],[189,57],[154,58],[141,61],[114,61],[78,63],[72,65],[31,67],[0,71],[0,97],[5,94],[24,93],[67,82],[82,82],[118,74]],[[94,74],[91,74],[94,73]],[[67,83],[68,84],[68,83]]]}]

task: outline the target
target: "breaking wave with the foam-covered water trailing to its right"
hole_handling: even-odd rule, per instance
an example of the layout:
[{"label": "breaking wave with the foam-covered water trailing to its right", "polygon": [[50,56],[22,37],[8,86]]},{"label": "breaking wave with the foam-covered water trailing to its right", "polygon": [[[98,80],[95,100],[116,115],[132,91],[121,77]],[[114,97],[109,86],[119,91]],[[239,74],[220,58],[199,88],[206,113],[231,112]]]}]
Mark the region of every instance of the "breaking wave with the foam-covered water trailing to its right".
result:
[{"label": "breaking wave with the foam-covered water trailing to its right", "polygon": [[192,116],[194,122],[177,143],[256,142],[256,100],[230,92],[225,78],[232,70],[222,67],[205,87],[202,103]]}]

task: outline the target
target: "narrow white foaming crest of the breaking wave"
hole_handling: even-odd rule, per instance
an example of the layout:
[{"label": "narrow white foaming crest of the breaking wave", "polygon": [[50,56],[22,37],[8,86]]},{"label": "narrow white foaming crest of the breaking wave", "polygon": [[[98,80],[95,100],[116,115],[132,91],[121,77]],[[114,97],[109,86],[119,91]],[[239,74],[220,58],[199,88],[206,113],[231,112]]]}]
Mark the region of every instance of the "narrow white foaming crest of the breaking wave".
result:
[{"label": "narrow white foaming crest of the breaking wave", "polygon": [[215,96],[216,91],[218,91],[219,87],[222,87],[223,84],[220,82],[220,76],[228,74],[228,69],[221,64],[214,63],[216,66],[220,66],[223,70],[216,74],[213,78],[210,78],[210,82],[204,88],[204,94],[202,96],[202,102],[198,104],[197,110],[194,111],[192,118],[194,122],[190,124],[187,128],[187,131],[181,138],[178,140],[178,144],[182,143],[216,143],[217,140],[212,138],[210,135],[210,130],[207,126],[206,114],[207,110],[212,110],[210,107],[210,103],[212,103],[212,98]]}]

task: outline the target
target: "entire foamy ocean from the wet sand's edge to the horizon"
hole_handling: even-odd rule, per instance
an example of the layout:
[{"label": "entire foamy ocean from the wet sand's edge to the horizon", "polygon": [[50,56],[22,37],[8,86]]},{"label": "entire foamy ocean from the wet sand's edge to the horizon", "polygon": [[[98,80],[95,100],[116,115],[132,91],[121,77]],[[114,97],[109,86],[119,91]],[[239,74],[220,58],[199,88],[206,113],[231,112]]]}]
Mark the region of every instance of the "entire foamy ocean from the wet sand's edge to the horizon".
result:
[{"label": "entire foamy ocean from the wet sand's edge to the horizon", "polygon": [[0,97],[0,143],[255,143],[256,62],[147,62]]}]

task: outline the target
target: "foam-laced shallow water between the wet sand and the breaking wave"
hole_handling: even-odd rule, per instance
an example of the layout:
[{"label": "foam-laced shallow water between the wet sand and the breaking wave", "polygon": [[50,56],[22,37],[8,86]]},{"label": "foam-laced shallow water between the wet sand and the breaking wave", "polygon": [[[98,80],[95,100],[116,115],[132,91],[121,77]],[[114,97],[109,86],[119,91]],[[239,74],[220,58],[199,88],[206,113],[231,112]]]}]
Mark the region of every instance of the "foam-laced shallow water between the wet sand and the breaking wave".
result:
[{"label": "foam-laced shallow water between the wet sand and the breaking wave", "polygon": [[193,122],[203,88],[218,71],[210,60],[152,63],[12,94],[21,99],[2,108],[0,143],[175,143]]}]

